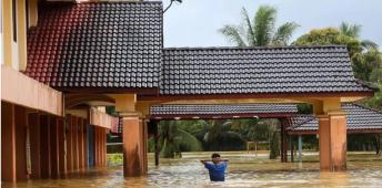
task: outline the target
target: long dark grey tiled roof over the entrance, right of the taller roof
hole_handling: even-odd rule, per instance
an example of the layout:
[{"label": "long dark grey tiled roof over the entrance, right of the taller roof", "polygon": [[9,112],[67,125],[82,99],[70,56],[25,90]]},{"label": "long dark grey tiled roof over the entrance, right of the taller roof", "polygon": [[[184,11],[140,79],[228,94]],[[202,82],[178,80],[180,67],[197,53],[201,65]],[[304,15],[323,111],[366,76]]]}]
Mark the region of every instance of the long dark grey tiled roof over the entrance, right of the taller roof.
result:
[{"label": "long dark grey tiled roof over the entrance, right of the taller roof", "polygon": [[164,95],[371,91],[342,45],[164,49],[162,72]]}]

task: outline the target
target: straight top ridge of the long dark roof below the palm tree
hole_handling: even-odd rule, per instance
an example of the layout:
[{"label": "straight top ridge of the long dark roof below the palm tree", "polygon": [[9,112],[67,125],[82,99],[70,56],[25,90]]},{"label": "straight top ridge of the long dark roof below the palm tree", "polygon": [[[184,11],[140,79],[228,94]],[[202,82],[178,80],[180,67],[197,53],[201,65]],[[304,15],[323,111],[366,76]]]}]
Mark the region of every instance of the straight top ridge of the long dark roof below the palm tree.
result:
[{"label": "straight top ridge of the long dark roof below the palm tree", "polygon": [[326,49],[326,48],[346,48],[346,45],[340,44],[326,44],[326,45],[285,45],[285,46],[172,46],[163,48],[163,51],[175,50],[267,50],[267,49]]}]

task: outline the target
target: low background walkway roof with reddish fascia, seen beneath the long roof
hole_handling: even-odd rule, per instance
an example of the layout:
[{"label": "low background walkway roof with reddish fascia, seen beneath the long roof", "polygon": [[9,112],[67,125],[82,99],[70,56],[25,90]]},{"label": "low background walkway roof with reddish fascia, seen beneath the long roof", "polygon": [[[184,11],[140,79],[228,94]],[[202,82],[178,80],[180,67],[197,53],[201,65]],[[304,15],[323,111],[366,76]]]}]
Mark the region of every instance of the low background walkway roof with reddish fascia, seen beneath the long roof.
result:
[{"label": "low background walkway roof with reddish fascia, seen beneath the long roof", "polygon": [[298,113],[296,104],[181,104],[153,105],[151,118],[232,118],[232,117],[280,117]]}]

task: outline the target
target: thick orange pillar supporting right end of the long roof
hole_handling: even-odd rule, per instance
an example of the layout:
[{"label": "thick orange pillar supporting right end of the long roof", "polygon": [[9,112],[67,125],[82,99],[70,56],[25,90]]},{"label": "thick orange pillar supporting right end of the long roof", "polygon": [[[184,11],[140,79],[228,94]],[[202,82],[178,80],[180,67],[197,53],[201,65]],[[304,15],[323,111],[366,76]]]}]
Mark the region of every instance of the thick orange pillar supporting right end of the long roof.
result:
[{"label": "thick orange pillar supporting right end of the long roof", "polygon": [[319,115],[320,169],[346,169],[346,116],[343,112]]}]

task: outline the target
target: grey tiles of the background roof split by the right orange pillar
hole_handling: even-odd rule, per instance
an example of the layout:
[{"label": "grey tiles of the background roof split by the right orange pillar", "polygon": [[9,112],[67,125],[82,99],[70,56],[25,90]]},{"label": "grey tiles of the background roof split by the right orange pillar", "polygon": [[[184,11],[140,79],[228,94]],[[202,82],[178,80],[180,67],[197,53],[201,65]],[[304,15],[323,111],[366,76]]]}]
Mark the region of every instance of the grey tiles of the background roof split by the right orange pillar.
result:
[{"label": "grey tiles of the background roof split by the right orange pillar", "polygon": [[[348,130],[382,129],[382,112],[352,103],[342,104],[342,109],[348,113]],[[310,119],[306,118],[306,121],[292,124],[289,129],[292,132],[306,132],[318,130],[318,118],[311,116]]]}]

